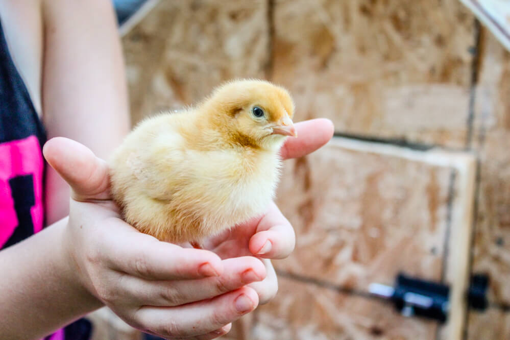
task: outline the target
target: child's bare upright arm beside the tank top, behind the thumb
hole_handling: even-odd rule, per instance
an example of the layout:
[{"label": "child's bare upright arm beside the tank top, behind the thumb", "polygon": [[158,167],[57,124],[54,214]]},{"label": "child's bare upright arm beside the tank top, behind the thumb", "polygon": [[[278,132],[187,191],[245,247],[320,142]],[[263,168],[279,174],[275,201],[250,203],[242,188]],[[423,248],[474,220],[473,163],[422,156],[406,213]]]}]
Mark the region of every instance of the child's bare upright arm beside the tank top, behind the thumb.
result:
[{"label": "child's bare upright arm beside the tank top, behind the thumb", "polygon": [[[42,0],[42,115],[48,138],[65,136],[106,159],[129,131],[124,60],[111,1]],[[48,169],[46,221],[68,214],[67,184]]]}]

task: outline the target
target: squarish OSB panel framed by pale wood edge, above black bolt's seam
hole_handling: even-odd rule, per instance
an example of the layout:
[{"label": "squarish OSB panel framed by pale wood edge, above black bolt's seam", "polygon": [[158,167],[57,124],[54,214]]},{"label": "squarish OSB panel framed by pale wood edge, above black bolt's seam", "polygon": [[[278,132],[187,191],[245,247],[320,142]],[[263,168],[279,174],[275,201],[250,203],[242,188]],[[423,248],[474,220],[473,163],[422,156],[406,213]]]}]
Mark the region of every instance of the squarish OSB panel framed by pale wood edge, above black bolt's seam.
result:
[{"label": "squarish OSB panel framed by pale wood edge, above black bolt's seam", "polygon": [[401,270],[441,280],[451,174],[335,142],[287,162],[277,202],[298,239],[277,268],[358,289]]}]

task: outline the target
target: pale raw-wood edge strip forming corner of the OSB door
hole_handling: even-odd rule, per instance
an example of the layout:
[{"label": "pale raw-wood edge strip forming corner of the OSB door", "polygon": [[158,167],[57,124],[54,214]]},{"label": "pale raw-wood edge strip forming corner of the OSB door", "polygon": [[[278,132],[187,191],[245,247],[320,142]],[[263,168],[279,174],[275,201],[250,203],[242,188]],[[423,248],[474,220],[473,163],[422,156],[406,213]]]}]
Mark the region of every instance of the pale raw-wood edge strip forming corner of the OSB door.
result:
[{"label": "pale raw-wood edge strip forming corner of the OSB door", "polygon": [[441,334],[449,340],[460,340],[467,313],[466,293],[469,285],[469,252],[473,225],[476,157],[469,152],[431,149],[427,151],[399,147],[392,144],[334,137],[329,143],[342,149],[404,158],[435,166],[448,167],[455,172],[455,204],[452,204],[451,230],[445,278],[450,282],[450,311]]}]

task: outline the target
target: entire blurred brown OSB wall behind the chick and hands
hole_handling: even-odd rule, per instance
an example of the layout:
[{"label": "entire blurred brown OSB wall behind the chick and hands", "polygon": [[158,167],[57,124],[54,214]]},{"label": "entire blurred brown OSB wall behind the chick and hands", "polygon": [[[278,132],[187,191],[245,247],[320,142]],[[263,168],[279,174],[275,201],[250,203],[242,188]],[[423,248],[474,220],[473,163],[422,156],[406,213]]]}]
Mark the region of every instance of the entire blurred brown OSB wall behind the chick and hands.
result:
[{"label": "entire blurred brown OSB wall behind the chick and hands", "polygon": [[297,249],[276,263],[275,301],[231,339],[450,338],[363,294],[400,269],[453,282],[445,231],[465,228],[452,216],[470,212],[465,253],[471,273],[490,275],[491,307],[461,316],[463,336],[510,338],[510,54],[457,0],[162,0],[123,45],[134,122],[221,81],[266,78],[292,92],[298,120],[328,117],[353,140],[476,157],[471,211],[458,201],[467,183],[458,167],[427,152],[410,160],[405,147],[388,156],[337,139],[287,162],[293,181],[279,197],[292,199],[280,206]]}]

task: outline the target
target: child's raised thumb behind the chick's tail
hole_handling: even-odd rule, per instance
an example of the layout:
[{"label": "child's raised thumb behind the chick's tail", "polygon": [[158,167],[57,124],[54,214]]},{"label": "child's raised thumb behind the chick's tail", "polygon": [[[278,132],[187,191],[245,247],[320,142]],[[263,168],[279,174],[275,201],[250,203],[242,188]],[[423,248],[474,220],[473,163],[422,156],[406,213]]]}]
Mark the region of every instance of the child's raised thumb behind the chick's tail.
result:
[{"label": "child's raised thumb behind the chick's tail", "polygon": [[42,148],[46,161],[71,186],[77,201],[110,199],[108,165],[85,145],[55,137]]}]

